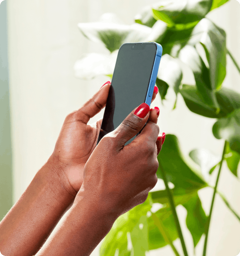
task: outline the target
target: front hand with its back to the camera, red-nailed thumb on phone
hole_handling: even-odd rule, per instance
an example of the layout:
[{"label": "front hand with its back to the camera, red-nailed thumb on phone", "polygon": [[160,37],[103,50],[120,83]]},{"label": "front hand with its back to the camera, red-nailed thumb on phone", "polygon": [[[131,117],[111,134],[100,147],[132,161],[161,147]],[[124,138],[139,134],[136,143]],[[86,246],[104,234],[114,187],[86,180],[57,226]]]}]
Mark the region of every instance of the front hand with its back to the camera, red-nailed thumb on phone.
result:
[{"label": "front hand with its back to the camera, red-nailed thumb on phone", "polygon": [[144,203],[157,183],[157,155],[162,148],[157,117],[157,111],[149,111],[143,103],[101,139],[84,167],[80,197],[115,217]]}]

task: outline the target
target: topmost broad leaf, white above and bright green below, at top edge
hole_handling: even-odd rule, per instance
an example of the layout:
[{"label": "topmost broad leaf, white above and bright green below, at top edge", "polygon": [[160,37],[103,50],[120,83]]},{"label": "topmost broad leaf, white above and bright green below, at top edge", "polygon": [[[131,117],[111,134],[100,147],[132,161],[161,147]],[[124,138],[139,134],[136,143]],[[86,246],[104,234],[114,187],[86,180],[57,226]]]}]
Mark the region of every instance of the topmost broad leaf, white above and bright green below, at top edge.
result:
[{"label": "topmost broad leaf, white above and bright green below, at top edge", "polygon": [[194,24],[195,21],[205,17],[211,8],[211,3],[211,0],[196,0],[194,2],[192,0],[162,0],[157,3],[159,7],[153,9],[153,17],[166,22],[169,26],[182,29],[185,28],[184,25]]}]

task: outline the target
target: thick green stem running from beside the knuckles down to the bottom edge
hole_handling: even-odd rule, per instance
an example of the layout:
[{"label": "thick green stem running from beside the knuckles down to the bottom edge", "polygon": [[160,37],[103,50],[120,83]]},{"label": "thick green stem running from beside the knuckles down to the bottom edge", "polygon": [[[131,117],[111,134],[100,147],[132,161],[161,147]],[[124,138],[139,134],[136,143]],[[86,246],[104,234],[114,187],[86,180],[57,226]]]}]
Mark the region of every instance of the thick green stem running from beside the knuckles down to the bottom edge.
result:
[{"label": "thick green stem running from beside the knuckles down to the bottom edge", "polygon": [[[159,166],[160,166],[160,161],[159,161]],[[178,220],[178,217],[177,217],[177,212],[176,212],[173,196],[172,196],[172,193],[171,193],[171,191],[168,187],[168,181],[166,179],[165,171],[163,170],[163,168],[161,168],[161,171],[162,171],[162,178],[163,178],[164,184],[166,186],[166,192],[168,194],[169,204],[171,206],[172,215],[173,215],[175,225],[176,225],[176,228],[177,228],[177,233],[178,233],[178,236],[179,236],[180,241],[181,241],[181,246],[183,248],[183,253],[184,253],[184,256],[188,256],[187,255],[187,248],[186,248],[186,245],[185,245],[185,242],[184,242],[184,239],[183,239],[183,233],[181,232],[180,223],[179,223],[179,220]]]}]

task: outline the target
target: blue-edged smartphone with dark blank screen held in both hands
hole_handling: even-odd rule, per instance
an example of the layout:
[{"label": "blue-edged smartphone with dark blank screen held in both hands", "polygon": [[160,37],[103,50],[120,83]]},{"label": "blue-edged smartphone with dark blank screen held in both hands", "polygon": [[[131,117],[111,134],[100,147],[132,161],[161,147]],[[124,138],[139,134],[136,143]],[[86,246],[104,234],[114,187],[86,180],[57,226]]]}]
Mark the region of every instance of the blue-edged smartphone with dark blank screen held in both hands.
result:
[{"label": "blue-edged smartphone with dark blank screen held in both hands", "polygon": [[161,57],[162,46],[155,42],[121,45],[97,144],[115,130],[134,108],[143,102],[150,106]]}]

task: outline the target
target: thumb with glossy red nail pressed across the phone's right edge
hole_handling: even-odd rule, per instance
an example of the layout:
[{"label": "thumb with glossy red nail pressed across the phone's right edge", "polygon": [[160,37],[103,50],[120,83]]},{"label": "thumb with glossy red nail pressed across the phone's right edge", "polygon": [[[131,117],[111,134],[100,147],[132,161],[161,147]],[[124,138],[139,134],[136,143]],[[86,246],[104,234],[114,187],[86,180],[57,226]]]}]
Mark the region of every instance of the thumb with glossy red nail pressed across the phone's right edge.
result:
[{"label": "thumb with glossy red nail pressed across the phone's right edge", "polygon": [[145,125],[149,117],[150,107],[142,103],[135,108],[121,124],[113,131],[117,144],[122,148]]}]

